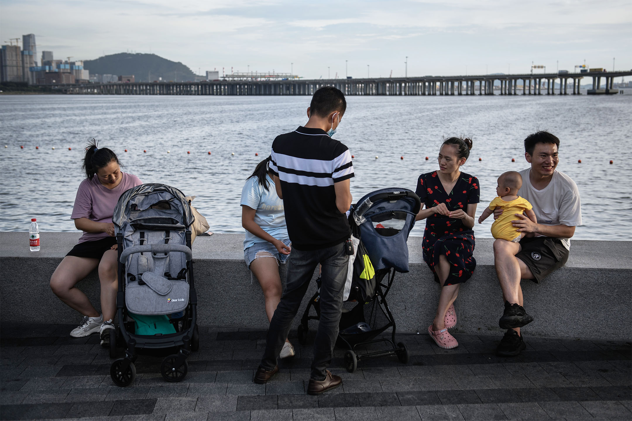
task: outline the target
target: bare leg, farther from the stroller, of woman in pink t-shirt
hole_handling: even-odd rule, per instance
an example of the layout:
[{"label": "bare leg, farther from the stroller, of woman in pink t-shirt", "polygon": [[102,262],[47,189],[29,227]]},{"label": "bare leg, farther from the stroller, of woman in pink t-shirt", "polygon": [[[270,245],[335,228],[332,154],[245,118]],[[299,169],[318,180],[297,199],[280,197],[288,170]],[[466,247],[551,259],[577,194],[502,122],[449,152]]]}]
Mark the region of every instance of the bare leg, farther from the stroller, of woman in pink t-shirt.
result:
[{"label": "bare leg, farther from the stroller, of woman in pink t-shirt", "polygon": [[88,317],[99,317],[88,297],[75,285],[88,276],[99,264],[99,259],[66,256],[51,276],[51,290],[72,309]]}]

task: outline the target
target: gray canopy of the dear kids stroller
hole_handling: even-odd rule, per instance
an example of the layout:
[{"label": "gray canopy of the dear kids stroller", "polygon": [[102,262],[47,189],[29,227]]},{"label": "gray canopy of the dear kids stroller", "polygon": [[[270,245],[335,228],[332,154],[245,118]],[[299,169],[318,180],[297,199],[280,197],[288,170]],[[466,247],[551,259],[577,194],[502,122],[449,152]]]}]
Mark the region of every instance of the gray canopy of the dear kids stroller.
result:
[{"label": "gray canopy of the dear kids stroller", "polygon": [[[166,184],[140,184],[121,195],[114,208],[112,222],[119,228],[123,228],[125,222],[132,221],[155,223],[155,220],[165,216],[166,210],[172,220],[166,224],[162,221],[161,225],[182,225],[188,228],[193,223],[191,206],[181,191]],[[141,218],[137,218],[141,215]]]}]

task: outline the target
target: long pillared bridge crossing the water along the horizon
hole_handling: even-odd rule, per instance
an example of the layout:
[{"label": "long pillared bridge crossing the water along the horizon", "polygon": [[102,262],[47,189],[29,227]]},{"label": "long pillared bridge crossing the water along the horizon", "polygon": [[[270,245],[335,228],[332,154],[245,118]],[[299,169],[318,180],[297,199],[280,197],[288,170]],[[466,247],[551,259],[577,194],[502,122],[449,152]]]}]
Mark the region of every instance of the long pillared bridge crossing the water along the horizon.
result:
[{"label": "long pillared bridge crossing the water along the horizon", "polygon": [[[346,95],[559,95],[580,94],[580,81],[592,77],[588,95],[617,93],[614,79],[631,76],[631,71],[480,74],[471,76],[420,76],[411,78],[358,78],[317,80],[217,80],[199,82],[135,82],[56,86],[83,95],[312,95],[321,86],[336,86]],[[605,89],[601,88],[602,79]],[[518,81],[522,81],[518,85]],[[519,87],[520,86],[520,87]]]}]

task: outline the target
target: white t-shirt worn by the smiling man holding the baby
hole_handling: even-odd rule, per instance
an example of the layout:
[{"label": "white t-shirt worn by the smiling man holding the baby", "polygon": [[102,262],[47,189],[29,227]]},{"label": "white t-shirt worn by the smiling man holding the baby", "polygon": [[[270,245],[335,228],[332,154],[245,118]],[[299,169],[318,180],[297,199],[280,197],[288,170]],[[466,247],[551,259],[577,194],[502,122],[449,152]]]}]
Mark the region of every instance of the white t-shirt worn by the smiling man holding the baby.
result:
[{"label": "white t-shirt worn by the smiling man holding the baby", "polygon": [[[518,196],[525,198],[533,206],[533,212],[542,225],[581,225],[580,191],[577,184],[563,172],[555,170],[549,185],[537,190],[531,184],[530,168],[520,171],[522,187]],[[560,239],[567,249],[571,239]]]}]

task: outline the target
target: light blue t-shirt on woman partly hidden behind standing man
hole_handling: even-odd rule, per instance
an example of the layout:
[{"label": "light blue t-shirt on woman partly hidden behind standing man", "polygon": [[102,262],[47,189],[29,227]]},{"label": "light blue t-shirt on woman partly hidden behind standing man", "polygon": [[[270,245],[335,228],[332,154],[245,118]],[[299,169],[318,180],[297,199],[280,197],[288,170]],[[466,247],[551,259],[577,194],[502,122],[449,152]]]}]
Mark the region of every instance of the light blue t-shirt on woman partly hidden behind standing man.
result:
[{"label": "light blue t-shirt on woman partly hidden behind standing man", "polygon": [[[241,206],[255,209],[255,223],[272,237],[283,240],[288,238],[288,227],[285,225],[285,212],[283,199],[276,194],[274,181],[267,174],[268,190],[259,184],[257,177],[246,180],[241,190]],[[265,242],[257,235],[246,230],[246,238],[243,240],[243,249],[247,249],[257,242]]]}]

